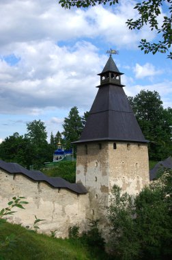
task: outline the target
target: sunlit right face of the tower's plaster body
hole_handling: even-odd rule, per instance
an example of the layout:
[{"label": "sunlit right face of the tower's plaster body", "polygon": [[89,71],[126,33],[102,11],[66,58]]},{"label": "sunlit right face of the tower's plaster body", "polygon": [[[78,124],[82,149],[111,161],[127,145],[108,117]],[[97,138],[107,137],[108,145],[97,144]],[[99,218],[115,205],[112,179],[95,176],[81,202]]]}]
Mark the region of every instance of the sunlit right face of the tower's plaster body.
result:
[{"label": "sunlit right face of the tower's plaster body", "polygon": [[114,184],[129,194],[138,194],[149,183],[147,144],[109,142],[109,188]]}]

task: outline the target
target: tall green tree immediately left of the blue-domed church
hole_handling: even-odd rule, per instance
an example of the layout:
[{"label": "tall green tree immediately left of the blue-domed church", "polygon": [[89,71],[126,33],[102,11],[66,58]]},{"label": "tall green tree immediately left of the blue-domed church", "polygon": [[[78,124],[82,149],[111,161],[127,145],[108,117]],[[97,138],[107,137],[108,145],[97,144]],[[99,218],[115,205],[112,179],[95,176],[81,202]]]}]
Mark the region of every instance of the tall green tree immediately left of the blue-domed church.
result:
[{"label": "tall green tree immediately left of the blue-domed church", "polygon": [[46,141],[47,133],[44,122],[41,120],[33,120],[27,124],[26,138],[31,143],[33,168],[40,168],[45,162],[52,159],[52,154],[49,153],[48,142]]}]

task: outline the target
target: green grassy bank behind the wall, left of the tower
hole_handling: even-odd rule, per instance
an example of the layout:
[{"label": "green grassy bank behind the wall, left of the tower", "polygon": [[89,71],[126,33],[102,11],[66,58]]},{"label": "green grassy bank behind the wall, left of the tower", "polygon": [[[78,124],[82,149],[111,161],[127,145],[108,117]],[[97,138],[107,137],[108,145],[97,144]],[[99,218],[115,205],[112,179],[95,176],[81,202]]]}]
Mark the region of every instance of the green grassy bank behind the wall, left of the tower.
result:
[{"label": "green grassy bank behind the wall, left of the tower", "polygon": [[61,177],[70,183],[76,181],[76,161],[59,161],[53,168],[41,169],[50,177]]}]

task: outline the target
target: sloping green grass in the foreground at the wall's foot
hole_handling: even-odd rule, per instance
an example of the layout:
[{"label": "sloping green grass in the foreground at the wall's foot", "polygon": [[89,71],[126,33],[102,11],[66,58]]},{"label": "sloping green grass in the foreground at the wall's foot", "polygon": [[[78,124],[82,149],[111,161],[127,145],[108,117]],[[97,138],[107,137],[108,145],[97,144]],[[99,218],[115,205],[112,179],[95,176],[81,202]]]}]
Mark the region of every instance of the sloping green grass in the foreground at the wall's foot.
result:
[{"label": "sloping green grass in the foreground at the wall's foot", "polygon": [[[1,248],[1,241],[14,234],[16,242]],[[29,231],[17,224],[0,225],[1,260],[103,260],[108,255],[94,246],[89,248],[80,239],[61,239]]]}]

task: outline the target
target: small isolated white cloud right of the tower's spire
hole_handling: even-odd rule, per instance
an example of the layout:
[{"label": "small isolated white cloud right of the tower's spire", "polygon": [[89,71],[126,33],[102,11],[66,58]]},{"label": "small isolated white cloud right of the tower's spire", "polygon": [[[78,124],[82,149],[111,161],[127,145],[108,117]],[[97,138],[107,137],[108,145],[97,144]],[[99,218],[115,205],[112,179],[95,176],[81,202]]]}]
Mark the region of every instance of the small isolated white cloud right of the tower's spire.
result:
[{"label": "small isolated white cloud right of the tower's spire", "polygon": [[150,77],[162,73],[162,70],[156,70],[155,66],[148,62],[143,66],[137,63],[133,70],[137,79],[142,79],[143,77]]}]

